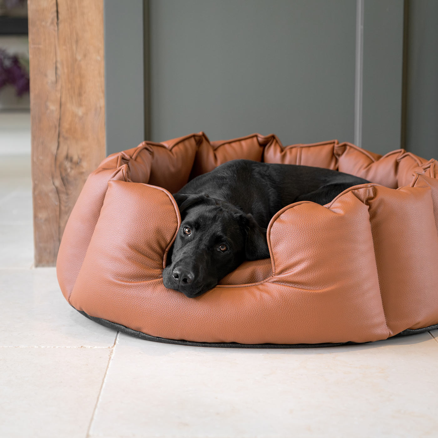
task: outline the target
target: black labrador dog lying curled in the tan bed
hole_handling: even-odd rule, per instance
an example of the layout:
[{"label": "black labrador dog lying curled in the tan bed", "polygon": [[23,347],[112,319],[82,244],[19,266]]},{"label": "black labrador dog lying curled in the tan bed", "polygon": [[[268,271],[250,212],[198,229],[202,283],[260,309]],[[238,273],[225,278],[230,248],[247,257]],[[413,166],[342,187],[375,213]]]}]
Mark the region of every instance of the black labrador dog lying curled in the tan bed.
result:
[{"label": "black labrador dog lying curled in the tan bed", "polygon": [[164,286],[198,297],[244,260],[269,257],[266,228],[286,205],[324,205],[369,181],[336,170],[244,159],[189,181],[173,197],[181,226],[163,270]]}]

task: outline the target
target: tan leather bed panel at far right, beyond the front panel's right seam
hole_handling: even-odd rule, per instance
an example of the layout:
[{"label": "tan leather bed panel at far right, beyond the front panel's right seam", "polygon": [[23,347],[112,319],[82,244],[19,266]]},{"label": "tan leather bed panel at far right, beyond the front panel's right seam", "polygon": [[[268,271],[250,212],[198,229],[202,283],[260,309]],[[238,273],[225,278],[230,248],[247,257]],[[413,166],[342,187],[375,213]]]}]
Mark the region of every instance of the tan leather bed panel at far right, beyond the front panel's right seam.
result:
[{"label": "tan leather bed panel at far right, beyond the front panel's right seam", "polygon": [[438,323],[438,233],[430,187],[374,186],[353,193],[370,206],[389,328],[398,333]]}]

